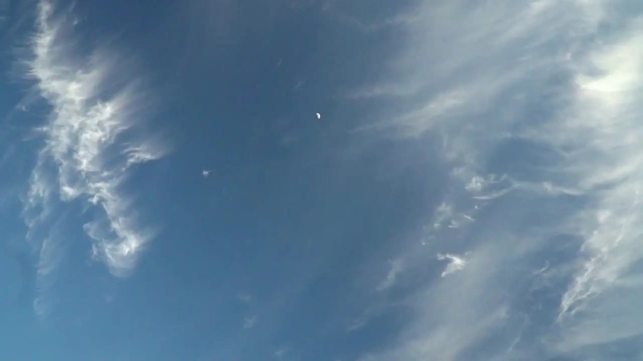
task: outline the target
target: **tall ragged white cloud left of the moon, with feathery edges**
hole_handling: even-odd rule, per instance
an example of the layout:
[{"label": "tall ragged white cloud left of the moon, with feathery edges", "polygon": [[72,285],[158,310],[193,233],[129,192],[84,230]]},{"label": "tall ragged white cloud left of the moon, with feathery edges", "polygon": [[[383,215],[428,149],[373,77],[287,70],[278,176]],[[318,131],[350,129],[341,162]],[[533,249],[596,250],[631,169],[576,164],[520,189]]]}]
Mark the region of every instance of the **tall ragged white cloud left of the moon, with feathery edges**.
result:
[{"label": "tall ragged white cloud left of the moon, with feathery edges", "polygon": [[[96,209],[95,220],[82,227],[93,240],[93,256],[114,275],[125,276],[155,232],[138,224],[124,182],[136,164],[159,159],[168,148],[159,137],[141,137],[149,92],[123,65],[131,62],[107,48],[84,57],[73,47],[74,25],[50,1],[37,3],[31,56],[24,67],[50,112],[38,129],[44,146],[23,216],[29,238],[49,253],[67,242],[39,241],[51,222],[60,220],[60,210],[74,202]],[[39,272],[52,267],[41,258]]]}]

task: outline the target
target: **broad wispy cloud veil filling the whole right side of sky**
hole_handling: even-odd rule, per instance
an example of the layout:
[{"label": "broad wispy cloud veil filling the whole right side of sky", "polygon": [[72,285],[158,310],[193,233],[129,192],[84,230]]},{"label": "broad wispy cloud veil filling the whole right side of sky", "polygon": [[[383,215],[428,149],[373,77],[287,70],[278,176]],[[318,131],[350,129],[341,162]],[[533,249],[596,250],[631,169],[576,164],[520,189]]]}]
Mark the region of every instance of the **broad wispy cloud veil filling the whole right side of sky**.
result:
[{"label": "broad wispy cloud veil filling the whole right side of sky", "polygon": [[404,39],[379,81],[351,95],[395,106],[354,134],[440,142],[451,182],[426,247],[462,272],[418,285],[395,344],[363,360],[643,352],[643,8],[414,4],[386,23]]}]

